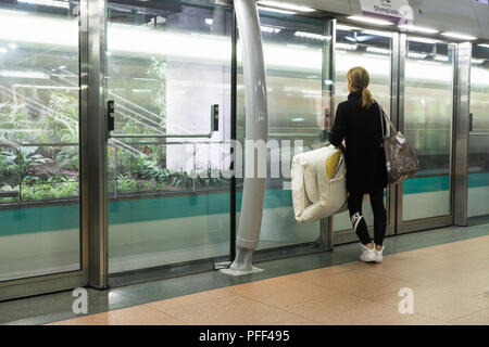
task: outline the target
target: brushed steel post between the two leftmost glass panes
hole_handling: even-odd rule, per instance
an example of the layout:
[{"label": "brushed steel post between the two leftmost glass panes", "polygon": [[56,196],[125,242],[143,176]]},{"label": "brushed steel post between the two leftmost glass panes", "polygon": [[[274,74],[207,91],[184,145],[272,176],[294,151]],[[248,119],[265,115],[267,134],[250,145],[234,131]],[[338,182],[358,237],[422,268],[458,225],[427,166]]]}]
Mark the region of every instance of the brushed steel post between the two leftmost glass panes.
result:
[{"label": "brushed steel post between the two leftmost glass panes", "polygon": [[108,224],[104,105],[106,0],[88,0],[88,213],[89,282],[96,288],[108,287]]}]

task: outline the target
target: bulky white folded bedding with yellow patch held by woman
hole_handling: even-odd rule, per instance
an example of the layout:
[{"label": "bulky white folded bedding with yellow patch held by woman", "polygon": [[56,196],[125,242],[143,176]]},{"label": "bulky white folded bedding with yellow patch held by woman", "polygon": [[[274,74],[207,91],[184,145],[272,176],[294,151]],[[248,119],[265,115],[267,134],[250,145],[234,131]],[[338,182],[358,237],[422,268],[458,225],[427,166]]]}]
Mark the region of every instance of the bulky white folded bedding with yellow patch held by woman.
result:
[{"label": "bulky white folded bedding with yellow patch held by woman", "polygon": [[294,155],[291,178],[297,221],[315,221],[348,208],[344,156],[333,144]]}]

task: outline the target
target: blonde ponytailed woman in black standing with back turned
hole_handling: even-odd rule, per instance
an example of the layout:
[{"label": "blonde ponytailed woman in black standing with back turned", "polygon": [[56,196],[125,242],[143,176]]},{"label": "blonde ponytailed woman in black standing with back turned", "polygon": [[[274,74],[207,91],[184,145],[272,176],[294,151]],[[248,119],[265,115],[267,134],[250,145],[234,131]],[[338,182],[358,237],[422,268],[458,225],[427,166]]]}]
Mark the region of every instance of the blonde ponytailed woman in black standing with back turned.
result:
[{"label": "blonde ponytailed woman in black standing with back turned", "polygon": [[[338,105],[330,143],[341,146],[347,164],[348,209],[360,239],[362,261],[383,261],[387,214],[384,190],[387,187],[386,156],[381,147],[380,107],[367,89],[368,72],[356,66],[347,73],[348,101]],[[384,127],[386,128],[386,127]],[[363,195],[368,194],[374,211],[374,244],[362,215]]]}]

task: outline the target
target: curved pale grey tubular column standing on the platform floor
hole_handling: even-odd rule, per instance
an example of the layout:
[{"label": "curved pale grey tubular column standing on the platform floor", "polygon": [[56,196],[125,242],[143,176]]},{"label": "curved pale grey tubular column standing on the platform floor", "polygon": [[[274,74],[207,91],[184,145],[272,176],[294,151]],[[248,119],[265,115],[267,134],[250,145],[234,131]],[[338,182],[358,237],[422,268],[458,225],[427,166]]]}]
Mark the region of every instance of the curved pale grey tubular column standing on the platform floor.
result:
[{"label": "curved pale grey tubular column standing on the platform floor", "polygon": [[[254,1],[235,0],[234,4],[244,75],[246,142],[266,143],[268,132],[266,81],[259,13]],[[244,151],[246,166],[253,165],[255,169],[266,167],[266,155],[263,158],[264,163],[259,163],[258,156],[254,155],[254,146],[244,145]],[[236,237],[236,258],[230,271],[225,271],[227,273],[243,274],[253,271],[251,258],[260,239],[265,181],[266,178],[244,177],[241,218]]]}]

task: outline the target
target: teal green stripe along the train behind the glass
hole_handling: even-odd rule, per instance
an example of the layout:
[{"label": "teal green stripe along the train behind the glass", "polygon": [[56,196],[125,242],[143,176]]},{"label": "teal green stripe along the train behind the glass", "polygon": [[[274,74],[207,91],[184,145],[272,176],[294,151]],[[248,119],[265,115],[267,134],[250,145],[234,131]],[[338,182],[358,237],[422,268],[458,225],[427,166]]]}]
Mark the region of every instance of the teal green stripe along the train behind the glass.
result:
[{"label": "teal green stripe along the train behind the glass", "polygon": [[[489,174],[473,174],[468,187],[489,185]],[[405,194],[448,190],[448,176],[416,178],[404,182]],[[237,195],[238,210],[242,193]],[[292,206],[290,191],[268,190],[265,208]],[[168,218],[186,218],[229,213],[229,194],[202,194],[164,198],[143,198],[111,202],[109,223],[121,224]],[[0,235],[25,234],[79,228],[78,205],[60,205],[0,210]]]}]

